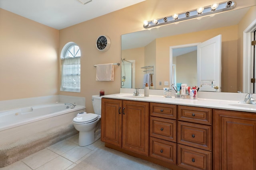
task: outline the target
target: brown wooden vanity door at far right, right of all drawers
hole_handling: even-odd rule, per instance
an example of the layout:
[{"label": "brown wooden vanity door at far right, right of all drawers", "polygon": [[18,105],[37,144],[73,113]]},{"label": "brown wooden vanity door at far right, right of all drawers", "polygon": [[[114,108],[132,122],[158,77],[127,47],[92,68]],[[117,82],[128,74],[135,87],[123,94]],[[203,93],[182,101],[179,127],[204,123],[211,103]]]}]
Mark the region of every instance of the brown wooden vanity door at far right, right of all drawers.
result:
[{"label": "brown wooden vanity door at far right, right of all drawers", "polygon": [[214,110],[214,169],[256,170],[256,114]]}]

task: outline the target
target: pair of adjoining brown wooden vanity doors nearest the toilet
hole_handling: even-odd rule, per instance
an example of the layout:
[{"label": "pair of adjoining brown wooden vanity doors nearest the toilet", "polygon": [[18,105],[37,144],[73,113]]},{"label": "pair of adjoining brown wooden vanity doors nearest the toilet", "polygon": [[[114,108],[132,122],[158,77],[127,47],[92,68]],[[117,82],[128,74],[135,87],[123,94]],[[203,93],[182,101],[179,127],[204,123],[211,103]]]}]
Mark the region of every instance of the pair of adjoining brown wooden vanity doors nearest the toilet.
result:
[{"label": "pair of adjoining brown wooden vanity doors nearest the toilet", "polygon": [[101,140],[148,156],[148,102],[102,98]]}]

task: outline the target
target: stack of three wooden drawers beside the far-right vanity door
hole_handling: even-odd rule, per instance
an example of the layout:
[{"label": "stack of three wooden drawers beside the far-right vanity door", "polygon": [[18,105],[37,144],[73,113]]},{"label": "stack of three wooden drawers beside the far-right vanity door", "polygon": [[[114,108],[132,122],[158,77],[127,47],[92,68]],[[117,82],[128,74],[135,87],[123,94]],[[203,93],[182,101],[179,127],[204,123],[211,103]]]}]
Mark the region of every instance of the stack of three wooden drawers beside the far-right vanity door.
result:
[{"label": "stack of three wooden drawers beside the far-right vanity door", "polygon": [[178,106],[178,166],[212,169],[212,109]]}]

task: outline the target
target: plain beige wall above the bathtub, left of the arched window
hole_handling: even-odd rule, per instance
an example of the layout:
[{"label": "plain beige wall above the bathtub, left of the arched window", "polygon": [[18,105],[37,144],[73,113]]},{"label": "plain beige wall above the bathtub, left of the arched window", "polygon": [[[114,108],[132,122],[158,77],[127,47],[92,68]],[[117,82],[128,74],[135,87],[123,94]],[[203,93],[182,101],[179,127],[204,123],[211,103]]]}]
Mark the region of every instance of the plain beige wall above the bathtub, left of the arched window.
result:
[{"label": "plain beige wall above the bathtub, left of the arched window", "polygon": [[0,8],[0,100],[58,94],[58,30]]}]

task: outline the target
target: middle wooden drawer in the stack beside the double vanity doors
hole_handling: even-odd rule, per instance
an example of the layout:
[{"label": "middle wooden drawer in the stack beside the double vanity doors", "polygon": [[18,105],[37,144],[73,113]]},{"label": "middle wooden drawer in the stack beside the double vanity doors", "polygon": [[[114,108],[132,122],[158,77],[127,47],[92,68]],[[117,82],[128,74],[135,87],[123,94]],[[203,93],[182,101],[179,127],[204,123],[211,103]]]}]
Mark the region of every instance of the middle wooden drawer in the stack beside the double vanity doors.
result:
[{"label": "middle wooden drawer in the stack beside the double vanity doors", "polygon": [[150,117],[150,136],[176,142],[176,120]]}]

